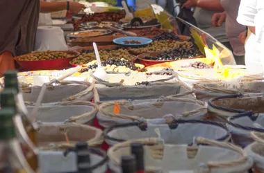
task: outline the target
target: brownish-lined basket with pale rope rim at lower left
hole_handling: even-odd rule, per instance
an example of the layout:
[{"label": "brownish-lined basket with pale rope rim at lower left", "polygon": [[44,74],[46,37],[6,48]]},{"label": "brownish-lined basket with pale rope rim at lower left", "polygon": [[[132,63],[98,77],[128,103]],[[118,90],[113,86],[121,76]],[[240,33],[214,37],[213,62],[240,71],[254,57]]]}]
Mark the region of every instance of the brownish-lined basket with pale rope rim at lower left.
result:
[{"label": "brownish-lined basket with pale rope rim at lower left", "polygon": [[[65,133],[69,143],[66,141]],[[74,147],[79,141],[86,141],[89,146],[97,147],[104,141],[102,134],[103,132],[95,127],[70,122],[64,125],[39,125],[37,138],[41,149],[67,149]]]}]

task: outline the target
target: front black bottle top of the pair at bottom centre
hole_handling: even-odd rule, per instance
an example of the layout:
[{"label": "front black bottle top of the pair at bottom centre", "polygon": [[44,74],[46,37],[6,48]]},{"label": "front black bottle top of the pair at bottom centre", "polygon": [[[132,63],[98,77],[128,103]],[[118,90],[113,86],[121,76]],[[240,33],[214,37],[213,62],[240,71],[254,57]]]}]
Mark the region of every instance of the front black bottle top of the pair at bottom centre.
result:
[{"label": "front black bottle top of the pair at bottom centre", "polygon": [[122,172],[134,173],[135,172],[135,156],[122,156],[121,158]]}]

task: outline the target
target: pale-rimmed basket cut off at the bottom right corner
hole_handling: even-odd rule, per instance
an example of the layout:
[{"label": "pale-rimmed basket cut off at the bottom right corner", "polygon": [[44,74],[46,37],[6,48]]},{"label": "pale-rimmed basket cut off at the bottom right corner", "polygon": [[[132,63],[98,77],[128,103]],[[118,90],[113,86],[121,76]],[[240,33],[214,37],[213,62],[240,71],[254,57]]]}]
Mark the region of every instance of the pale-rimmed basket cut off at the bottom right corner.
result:
[{"label": "pale-rimmed basket cut off at the bottom right corner", "polygon": [[264,172],[264,134],[252,131],[251,138],[256,140],[256,142],[251,143],[245,148],[245,152],[254,161],[254,166],[252,170],[254,173]]}]

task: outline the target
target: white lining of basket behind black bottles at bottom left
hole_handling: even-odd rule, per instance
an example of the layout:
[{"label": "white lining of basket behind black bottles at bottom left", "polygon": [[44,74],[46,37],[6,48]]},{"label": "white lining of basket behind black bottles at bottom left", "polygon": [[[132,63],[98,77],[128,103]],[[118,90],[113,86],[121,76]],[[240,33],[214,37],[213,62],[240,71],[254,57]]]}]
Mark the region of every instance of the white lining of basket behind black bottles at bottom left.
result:
[{"label": "white lining of basket behind black bottles at bottom left", "polygon": [[[77,172],[76,166],[76,154],[75,152],[69,152],[65,157],[63,152],[60,151],[40,151],[38,156],[40,172],[51,173],[51,172]],[[104,158],[90,154],[91,165],[95,165],[102,161]],[[107,171],[107,164],[101,165],[97,169],[93,170],[93,173],[104,173]]]}]

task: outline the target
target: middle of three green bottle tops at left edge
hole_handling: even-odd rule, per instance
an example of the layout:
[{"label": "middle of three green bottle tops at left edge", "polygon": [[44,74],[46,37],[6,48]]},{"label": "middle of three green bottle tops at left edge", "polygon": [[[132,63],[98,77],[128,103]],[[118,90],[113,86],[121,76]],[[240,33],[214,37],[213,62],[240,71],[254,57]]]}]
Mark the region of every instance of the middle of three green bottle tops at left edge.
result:
[{"label": "middle of three green bottle tops at left edge", "polygon": [[15,103],[15,91],[14,89],[4,89],[0,93],[1,108],[13,108],[17,111],[17,105]]}]

